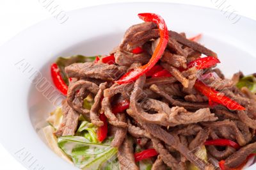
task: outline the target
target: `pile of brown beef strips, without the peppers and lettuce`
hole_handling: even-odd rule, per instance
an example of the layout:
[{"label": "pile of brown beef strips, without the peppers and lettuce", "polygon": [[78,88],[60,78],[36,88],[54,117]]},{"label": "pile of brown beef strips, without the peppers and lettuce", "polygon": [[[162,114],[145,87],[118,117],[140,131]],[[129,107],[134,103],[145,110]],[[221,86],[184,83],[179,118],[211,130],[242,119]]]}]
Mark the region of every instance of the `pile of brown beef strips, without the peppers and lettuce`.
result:
[{"label": "pile of brown beef strips, without the peppers and lettuce", "polygon": [[[111,146],[118,148],[121,169],[139,169],[134,162],[134,143],[154,148],[159,153],[152,169],[186,169],[191,162],[199,169],[214,169],[211,162],[195,156],[196,148],[209,139],[230,139],[241,149],[230,146],[207,146],[207,154],[217,160],[225,159],[225,166],[239,166],[256,150],[256,104],[236,88],[234,79],[225,79],[217,68],[196,70],[187,64],[204,54],[217,58],[215,52],[186,38],[185,33],[169,31],[169,40],[158,62],[172,77],[146,77],[135,82],[116,84],[129,70],[148,63],[159,41],[159,31],[153,22],[137,24],[126,31],[120,45],[111,54],[115,64],[74,63],[65,68],[68,78],[67,100],[63,101],[63,121],[55,132],[57,136],[74,135],[79,115],[101,127],[99,114],[108,118],[109,132],[114,135]],[[132,49],[141,47],[140,54]],[[185,71],[180,71],[184,68]],[[208,86],[215,88],[246,108],[246,111],[230,111],[226,107],[209,105],[208,98],[196,91],[194,84],[202,75]],[[84,109],[83,101],[93,96],[92,108]],[[117,101],[129,100],[129,109],[114,114],[112,106]]]}]

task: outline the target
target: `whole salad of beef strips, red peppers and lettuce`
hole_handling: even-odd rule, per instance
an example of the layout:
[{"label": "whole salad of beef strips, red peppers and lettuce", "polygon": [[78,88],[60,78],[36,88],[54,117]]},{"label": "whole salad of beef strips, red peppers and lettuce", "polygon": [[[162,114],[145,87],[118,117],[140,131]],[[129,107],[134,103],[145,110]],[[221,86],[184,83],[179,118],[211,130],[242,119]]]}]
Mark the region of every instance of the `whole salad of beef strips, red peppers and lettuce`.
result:
[{"label": "whole salad of beef strips, red peppers and lettuce", "polygon": [[138,14],[108,56],[58,58],[50,148],[80,169],[243,169],[255,162],[256,75],[227,79],[215,52]]}]

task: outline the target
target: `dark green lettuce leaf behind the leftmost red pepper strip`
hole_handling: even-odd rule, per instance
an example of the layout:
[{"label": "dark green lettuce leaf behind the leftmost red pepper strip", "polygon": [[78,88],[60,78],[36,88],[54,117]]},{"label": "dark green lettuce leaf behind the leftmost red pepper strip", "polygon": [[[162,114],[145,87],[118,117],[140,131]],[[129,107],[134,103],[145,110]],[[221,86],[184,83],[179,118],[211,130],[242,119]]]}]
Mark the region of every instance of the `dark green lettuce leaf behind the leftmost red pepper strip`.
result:
[{"label": "dark green lettuce leaf behind the leftmost red pepper strip", "polygon": [[71,56],[69,58],[63,58],[60,57],[56,60],[56,64],[60,68],[60,73],[63,81],[65,81],[66,84],[68,84],[68,77],[65,73],[65,66],[71,65],[73,63],[85,63],[85,62],[92,62],[94,61],[96,56]]}]

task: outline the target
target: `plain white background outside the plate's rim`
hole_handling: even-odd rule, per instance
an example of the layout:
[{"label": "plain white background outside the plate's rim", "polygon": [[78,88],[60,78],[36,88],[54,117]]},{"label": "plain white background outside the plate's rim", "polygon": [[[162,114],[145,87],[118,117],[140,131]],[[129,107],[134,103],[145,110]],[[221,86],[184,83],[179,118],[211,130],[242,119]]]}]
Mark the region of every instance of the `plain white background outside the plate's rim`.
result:
[{"label": "plain white background outside the plate's rim", "polygon": [[[8,41],[12,36],[17,35],[23,29],[26,29],[40,20],[47,19],[51,16],[40,1],[44,0],[0,0],[0,45]],[[108,1],[108,0],[52,0],[55,4],[58,4],[64,11],[76,10],[77,8],[84,8],[86,6],[94,6],[99,4],[109,3],[122,3],[122,2],[134,2],[134,1]],[[167,0],[161,2],[171,3],[184,3],[194,4],[198,6],[207,6],[209,8],[216,8],[214,4],[218,1],[226,1],[226,4],[230,4],[232,9],[236,10],[236,13],[244,15],[251,19],[256,20],[256,1],[255,0]],[[139,1],[142,2],[142,1]],[[144,2],[151,2],[149,0]],[[154,2],[154,1],[153,1]],[[158,1],[160,2],[160,1]],[[107,15],[107,14],[106,14]],[[81,21],[83,22],[83,21]],[[255,28],[256,30],[256,28]],[[13,49],[15,50],[15,49]],[[4,56],[1,56],[4,58]],[[17,125],[19,126],[19,125]],[[1,132],[0,132],[1,135]],[[19,139],[17,140],[19,141]],[[3,170],[24,170],[15,158],[12,157],[0,144],[0,169]]]}]

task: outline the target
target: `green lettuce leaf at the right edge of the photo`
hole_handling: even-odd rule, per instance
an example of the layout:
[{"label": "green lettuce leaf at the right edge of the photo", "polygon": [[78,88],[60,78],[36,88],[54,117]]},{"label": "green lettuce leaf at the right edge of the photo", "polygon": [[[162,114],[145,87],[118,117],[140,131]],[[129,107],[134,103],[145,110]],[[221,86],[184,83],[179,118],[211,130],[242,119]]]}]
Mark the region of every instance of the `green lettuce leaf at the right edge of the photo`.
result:
[{"label": "green lettuce leaf at the right edge of the photo", "polygon": [[256,77],[255,75],[244,76],[237,82],[237,88],[247,87],[252,93],[256,93]]}]

